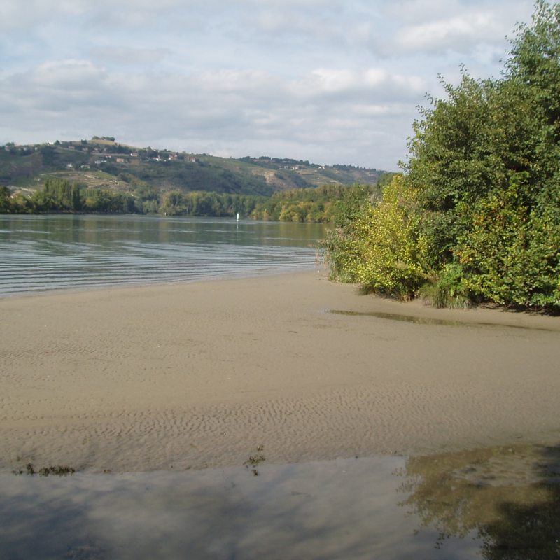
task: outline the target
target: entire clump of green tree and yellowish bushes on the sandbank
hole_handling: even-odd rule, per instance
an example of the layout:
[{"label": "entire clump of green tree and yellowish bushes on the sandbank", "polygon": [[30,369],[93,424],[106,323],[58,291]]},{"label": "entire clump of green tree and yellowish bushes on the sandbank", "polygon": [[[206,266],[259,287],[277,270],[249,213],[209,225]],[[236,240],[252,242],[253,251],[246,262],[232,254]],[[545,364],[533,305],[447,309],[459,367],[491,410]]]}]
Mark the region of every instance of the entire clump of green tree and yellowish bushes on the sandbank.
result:
[{"label": "entire clump of green tree and yellowish bushes on the sandbank", "polygon": [[332,275],[437,306],[560,307],[560,6],[536,3],[498,79],[463,71],[414,123],[382,200],[354,192],[323,241]]}]

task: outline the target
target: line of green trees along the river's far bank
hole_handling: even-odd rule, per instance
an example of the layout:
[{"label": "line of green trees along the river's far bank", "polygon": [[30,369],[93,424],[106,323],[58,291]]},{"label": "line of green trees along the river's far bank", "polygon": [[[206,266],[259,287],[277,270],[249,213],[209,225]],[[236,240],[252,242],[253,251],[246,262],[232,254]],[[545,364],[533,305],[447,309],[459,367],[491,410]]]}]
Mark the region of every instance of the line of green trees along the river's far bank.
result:
[{"label": "line of green trees along the river's far bank", "polygon": [[[383,174],[374,186],[360,186],[360,193],[379,196],[381,188],[391,181],[393,174]],[[31,195],[11,195],[0,187],[0,213],[41,214],[118,213],[165,214],[167,216],[230,216],[276,221],[323,222],[332,221],[339,202],[358,186],[325,184],[318,187],[277,191],[271,197],[214,192],[183,193],[180,190],[161,194],[145,181],[130,174],[121,179],[130,183],[132,191],[80,188],[79,183],[67,179],[46,179],[41,190]]]}]

